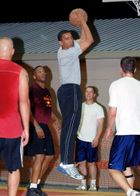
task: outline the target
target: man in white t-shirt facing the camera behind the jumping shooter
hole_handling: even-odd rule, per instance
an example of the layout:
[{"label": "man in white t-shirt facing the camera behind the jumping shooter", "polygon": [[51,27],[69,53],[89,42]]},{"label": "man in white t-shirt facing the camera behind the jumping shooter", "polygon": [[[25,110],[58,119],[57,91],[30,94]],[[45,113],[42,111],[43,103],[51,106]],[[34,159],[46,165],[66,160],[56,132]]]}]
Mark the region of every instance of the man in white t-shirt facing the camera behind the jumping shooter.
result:
[{"label": "man in white t-shirt facing the camera behind the jumping shooter", "polygon": [[94,86],[86,87],[76,141],[76,163],[85,178],[81,180],[77,190],[87,190],[88,179],[90,180],[88,190],[97,190],[95,162],[98,161],[98,144],[103,131],[104,111],[96,102],[96,97],[97,89]]}]

